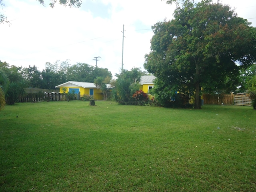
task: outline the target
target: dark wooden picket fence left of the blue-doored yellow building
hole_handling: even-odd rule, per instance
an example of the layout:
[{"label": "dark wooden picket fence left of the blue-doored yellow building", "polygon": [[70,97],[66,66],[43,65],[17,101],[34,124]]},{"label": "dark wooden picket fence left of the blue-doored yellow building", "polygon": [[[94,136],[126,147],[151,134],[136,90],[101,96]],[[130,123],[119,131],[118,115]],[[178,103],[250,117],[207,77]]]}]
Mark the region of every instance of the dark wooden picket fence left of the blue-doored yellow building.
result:
[{"label": "dark wooden picket fence left of the blue-doored yellow building", "polygon": [[[70,100],[78,100],[77,94]],[[63,93],[28,93],[26,96],[19,98],[19,102],[38,102],[38,101],[67,101],[67,94]]]}]

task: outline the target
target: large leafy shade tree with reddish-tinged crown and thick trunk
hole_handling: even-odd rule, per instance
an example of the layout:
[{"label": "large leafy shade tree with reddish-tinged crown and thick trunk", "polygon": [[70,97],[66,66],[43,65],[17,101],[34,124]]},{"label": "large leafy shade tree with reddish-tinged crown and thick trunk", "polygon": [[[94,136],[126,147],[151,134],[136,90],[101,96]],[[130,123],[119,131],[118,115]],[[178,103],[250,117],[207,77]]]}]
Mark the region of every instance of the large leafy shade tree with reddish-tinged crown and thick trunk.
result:
[{"label": "large leafy shade tree with reddish-tinged crown and thick trunk", "polygon": [[239,70],[256,60],[256,30],[230,6],[212,0],[182,2],[173,20],[152,26],[151,52],[145,55],[144,67],[157,77],[154,90],[162,105],[168,106],[174,93],[181,91],[194,93],[199,109],[202,89],[236,87]]}]

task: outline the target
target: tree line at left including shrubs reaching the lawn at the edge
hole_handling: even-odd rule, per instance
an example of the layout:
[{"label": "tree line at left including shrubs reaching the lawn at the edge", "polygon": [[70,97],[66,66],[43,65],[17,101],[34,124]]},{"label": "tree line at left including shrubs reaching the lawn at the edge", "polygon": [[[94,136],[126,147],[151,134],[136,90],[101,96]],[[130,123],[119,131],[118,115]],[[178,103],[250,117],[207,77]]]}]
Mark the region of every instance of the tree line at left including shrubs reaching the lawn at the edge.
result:
[{"label": "tree line at left including shrubs reaching the lawn at the edge", "polygon": [[26,94],[24,88],[55,89],[55,86],[67,81],[93,83],[98,77],[110,83],[112,74],[107,68],[98,68],[85,63],[71,66],[68,60],[47,62],[42,71],[39,71],[35,65],[22,68],[0,61],[0,106],[3,107],[5,102],[14,104],[19,97]]}]

